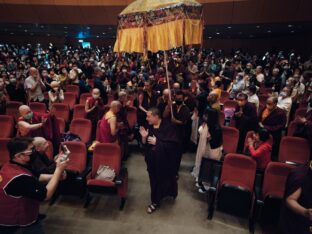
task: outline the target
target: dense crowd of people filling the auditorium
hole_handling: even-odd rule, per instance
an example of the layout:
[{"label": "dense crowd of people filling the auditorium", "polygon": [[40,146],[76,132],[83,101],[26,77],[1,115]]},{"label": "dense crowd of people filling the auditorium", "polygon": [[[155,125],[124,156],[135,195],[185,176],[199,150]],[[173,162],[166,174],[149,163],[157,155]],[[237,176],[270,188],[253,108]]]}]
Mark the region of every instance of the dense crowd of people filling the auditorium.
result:
[{"label": "dense crowd of people filling the auditorium", "polygon": [[[190,47],[183,52],[172,50],[166,59],[163,53],[149,54],[144,61],[140,54],[116,54],[111,47],[3,45],[0,72],[0,114],[6,113],[9,101],[23,103],[17,122],[19,138],[10,143],[20,146],[9,147],[13,162],[28,163],[24,156],[35,144],[29,137],[50,140],[58,150],[61,134],[53,104],[64,102],[68,85],[76,85],[80,95],[90,93],[85,112],[92,121],[93,147],[98,142],[119,144],[121,157],[126,160],[130,153],[128,142],[138,140],[150,178],[148,213],[153,213],[164,197],[177,197],[179,168],[187,151],[196,151],[192,175],[199,191],[206,192],[207,186],[198,181],[201,160],[223,159],[224,124],[239,130],[237,152],[252,157],[259,170],[278,160],[281,137],[292,121],[298,124],[297,136],[312,145],[312,57],[303,60],[294,51],[270,51],[262,56],[240,50],[226,54]],[[235,101],[234,108],[224,105],[225,94],[226,100]],[[264,102],[260,97],[265,97]],[[47,113],[33,112],[31,102],[44,103]],[[137,110],[134,128],[127,120],[127,112],[133,107]],[[307,113],[295,118],[299,107],[306,107]],[[221,112],[225,122],[220,121]],[[246,144],[249,131],[254,134]],[[49,171],[57,171],[60,179],[64,165],[57,159]],[[0,175],[8,170],[3,168]],[[48,186],[42,188],[40,196],[18,194],[41,201],[47,197],[43,194],[49,191]],[[296,201],[300,198],[297,189],[289,194]],[[311,221],[311,206],[304,208],[297,202],[288,207]],[[5,224],[1,217],[0,225]]]}]

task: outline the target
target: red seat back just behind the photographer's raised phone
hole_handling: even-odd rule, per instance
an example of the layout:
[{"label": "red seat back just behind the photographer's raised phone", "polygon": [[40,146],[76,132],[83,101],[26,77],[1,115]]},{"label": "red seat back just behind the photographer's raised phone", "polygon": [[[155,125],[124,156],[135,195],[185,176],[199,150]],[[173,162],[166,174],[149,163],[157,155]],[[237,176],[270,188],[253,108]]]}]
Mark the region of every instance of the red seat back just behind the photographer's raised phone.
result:
[{"label": "red seat back just behind the photographer's raised phone", "polygon": [[87,147],[80,141],[66,141],[64,144],[70,151],[67,170],[82,173],[87,164]]}]

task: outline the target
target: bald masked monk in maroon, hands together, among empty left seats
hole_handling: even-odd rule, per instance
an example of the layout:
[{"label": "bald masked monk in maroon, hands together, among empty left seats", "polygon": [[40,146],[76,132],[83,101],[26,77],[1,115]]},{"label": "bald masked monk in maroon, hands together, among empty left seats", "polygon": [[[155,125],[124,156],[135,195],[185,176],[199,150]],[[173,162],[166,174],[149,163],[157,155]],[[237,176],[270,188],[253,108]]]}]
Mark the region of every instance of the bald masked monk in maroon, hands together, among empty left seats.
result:
[{"label": "bald masked monk in maroon, hands together, among empty left seats", "polygon": [[98,121],[104,114],[104,104],[102,98],[100,98],[100,90],[94,88],[92,90],[92,96],[88,97],[85,104],[85,112],[87,119],[92,122],[92,135],[95,135],[96,126]]}]

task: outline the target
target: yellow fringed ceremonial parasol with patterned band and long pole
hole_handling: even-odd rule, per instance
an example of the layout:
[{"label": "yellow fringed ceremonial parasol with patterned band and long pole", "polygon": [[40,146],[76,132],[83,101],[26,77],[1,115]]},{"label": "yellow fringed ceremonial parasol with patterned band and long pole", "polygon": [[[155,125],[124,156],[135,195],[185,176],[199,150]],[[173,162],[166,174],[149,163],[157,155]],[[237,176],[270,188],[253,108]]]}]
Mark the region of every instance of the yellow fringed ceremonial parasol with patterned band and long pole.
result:
[{"label": "yellow fringed ceremonial parasol with patterned band and long pole", "polygon": [[202,42],[200,3],[195,0],[137,0],[118,16],[114,51],[144,53],[144,57],[147,51],[164,51],[170,90],[166,50]]}]

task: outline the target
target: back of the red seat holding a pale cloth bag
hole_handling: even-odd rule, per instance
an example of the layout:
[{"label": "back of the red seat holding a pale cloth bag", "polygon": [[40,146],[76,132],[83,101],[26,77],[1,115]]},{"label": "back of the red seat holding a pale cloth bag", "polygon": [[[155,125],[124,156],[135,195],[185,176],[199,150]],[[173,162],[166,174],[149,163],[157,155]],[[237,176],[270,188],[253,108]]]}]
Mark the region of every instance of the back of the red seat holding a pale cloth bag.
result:
[{"label": "back of the red seat holding a pale cloth bag", "polygon": [[100,165],[109,166],[119,174],[121,157],[120,147],[112,143],[99,143],[93,150],[91,178],[94,179]]}]

